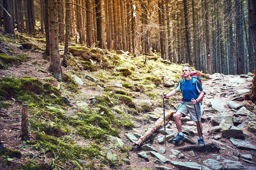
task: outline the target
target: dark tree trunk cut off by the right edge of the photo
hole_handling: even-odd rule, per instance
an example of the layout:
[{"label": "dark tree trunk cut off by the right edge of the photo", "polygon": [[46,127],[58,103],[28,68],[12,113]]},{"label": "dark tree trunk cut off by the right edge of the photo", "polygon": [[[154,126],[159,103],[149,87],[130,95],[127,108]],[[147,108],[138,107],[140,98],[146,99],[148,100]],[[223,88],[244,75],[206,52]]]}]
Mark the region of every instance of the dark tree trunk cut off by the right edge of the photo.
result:
[{"label": "dark tree trunk cut off by the right edge of the photo", "polygon": [[[249,0],[249,15],[251,22],[251,34],[253,38],[254,66],[256,66],[256,2]],[[254,68],[253,85],[251,86],[250,98],[256,103],[256,68]]]}]

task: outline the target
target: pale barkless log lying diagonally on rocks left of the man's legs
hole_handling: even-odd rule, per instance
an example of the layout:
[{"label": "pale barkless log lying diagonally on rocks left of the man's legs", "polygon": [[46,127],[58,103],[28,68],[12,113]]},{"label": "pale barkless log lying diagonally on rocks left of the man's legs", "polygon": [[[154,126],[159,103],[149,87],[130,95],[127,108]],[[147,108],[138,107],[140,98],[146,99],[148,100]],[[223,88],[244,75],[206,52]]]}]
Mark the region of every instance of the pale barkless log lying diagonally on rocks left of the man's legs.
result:
[{"label": "pale barkless log lying diagonally on rocks left of the man's legs", "polygon": [[[175,111],[169,111],[167,114],[166,114],[166,120],[172,116],[172,114],[174,114]],[[164,122],[164,116],[161,116],[153,126],[151,126],[150,129],[148,129],[146,131],[146,133],[144,133],[141,138],[138,139],[138,141],[136,141],[135,143],[133,143],[134,146],[141,146],[145,141],[147,141],[148,138],[151,137],[151,135],[153,133],[155,133],[155,131],[163,124]]]}]

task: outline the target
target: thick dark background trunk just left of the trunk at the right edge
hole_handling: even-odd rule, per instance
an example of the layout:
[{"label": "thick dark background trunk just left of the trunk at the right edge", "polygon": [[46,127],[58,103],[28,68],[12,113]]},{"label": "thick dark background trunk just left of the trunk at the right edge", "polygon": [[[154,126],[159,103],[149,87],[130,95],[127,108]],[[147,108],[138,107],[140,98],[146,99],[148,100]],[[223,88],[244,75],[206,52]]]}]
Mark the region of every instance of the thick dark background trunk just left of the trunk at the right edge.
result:
[{"label": "thick dark background trunk just left of the trunk at the right edge", "polygon": [[245,48],[244,48],[244,37],[243,37],[243,22],[242,22],[242,3],[236,0],[237,5],[237,24],[236,24],[236,35],[237,35],[237,71],[238,74],[245,74]]}]

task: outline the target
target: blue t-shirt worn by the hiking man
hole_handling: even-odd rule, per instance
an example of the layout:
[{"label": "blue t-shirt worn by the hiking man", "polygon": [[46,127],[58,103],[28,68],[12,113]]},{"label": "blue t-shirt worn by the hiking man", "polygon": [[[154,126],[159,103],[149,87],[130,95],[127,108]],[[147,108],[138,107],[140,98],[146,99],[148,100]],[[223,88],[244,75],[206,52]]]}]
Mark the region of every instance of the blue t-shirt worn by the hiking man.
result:
[{"label": "blue t-shirt worn by the hiking man", "polygon": [[[175,87],[175,90],[177,91],[180,90],[181,80],[179,81],[179,83],[177,83],[177,86]],[[182,96],[184,101],[191,101],[192,99],[197,99],[197,97],[199,96],[199,93],[203,91],[203,88],[199,80],[196,80],[197,89],[193,85],[193,79],[190,79],[190,80],[183,79],[183,80],[184,81],[183,81],[183,85],[181,86],[181,90],[182,90]]]}]

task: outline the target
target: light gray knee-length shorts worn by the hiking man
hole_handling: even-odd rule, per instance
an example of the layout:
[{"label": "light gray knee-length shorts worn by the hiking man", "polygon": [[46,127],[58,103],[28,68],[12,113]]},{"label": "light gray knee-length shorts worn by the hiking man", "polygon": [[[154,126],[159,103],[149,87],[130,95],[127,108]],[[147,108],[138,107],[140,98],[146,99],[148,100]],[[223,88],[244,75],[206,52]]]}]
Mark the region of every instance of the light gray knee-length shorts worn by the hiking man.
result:
[{"label": "light gray knee-length shorts worn by the hiking man", "polygon": [[[196,111],[195,111],[195,107],[191,101],[185,101],[180,105],[180,107],[177,109],[176,112],[183,113],[183,114],[185,114],[185,116],[187,116],[188,113],[190,113],[190,119],[192,121],[197,122],[197,117],[198,117],[198,120],[201,121],[201,112],[200,112],[201,104],[197,103],[195,106],[196,106]],[[197,113],[197,117],[196,117],[196,113]]]}]

